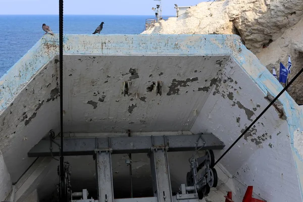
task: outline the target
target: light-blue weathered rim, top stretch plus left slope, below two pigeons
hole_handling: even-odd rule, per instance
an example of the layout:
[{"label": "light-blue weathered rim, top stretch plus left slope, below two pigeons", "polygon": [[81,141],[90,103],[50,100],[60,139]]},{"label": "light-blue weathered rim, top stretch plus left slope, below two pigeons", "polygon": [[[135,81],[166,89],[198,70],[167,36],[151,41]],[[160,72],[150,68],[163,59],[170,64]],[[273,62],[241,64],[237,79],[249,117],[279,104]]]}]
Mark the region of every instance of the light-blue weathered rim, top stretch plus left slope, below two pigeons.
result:
[{"label": "light-blue weathered rim, top stretch plus left slope, below two pigeons", "polygon": [[[64,54],[79,55],[230,55],[233,35],[64,35]],[[218,42],[220,41],[220,42]],[[59,36],[44,35],[0,78],[0,113],[59,51]],[[199,45],[199,46],[198,46]],[[220,47],[220,48],[219,48]],[[214,50],[215,53],[214,53]]]}]

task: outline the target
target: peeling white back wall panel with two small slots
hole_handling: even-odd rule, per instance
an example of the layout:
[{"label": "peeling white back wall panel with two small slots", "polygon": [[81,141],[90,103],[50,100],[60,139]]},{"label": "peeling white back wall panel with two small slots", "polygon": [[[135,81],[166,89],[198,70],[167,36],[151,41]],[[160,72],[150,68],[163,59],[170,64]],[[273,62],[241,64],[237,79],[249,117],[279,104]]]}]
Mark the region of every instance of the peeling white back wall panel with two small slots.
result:
[{"label": "peeling white back wall panel with two small slots", "polygon": [[[210,93],[199,88],[211,83],[226,59],[224,56],[65,56],[64,130],[188,131],[196,118],[195,111],[201,110]],[[131,95],[124,96],[122,83],[130,80]],[[157,81],[163,82],[162,96],[146,90]]]}]

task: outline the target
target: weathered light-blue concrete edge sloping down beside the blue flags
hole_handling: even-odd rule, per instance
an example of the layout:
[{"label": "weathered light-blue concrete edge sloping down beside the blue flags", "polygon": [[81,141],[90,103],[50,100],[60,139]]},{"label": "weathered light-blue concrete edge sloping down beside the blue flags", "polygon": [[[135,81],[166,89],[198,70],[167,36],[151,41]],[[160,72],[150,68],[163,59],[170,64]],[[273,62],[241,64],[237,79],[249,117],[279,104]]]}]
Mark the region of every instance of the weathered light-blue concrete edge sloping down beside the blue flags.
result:
[{"label": "weathered light-blue concrete edge sloping down beside the blue flags", "polygon": [[[268,92],[273,96],[277,96],[283,86],[243,44],[240,47],[241,53],[239,55],[232,54],[231,57],[239,63],[244,72],[261,88],[265,96]],[[279,101],[282,103],[287,117],[292,156],[296,165],[298,185],[303,200],[303,170],[301,169],[303,168],[303,157],[301,157],[293,144],[295,131],[302,131],[303,129],[303,113],[301,107],[295,103],[286,91],[279,97]]]}]

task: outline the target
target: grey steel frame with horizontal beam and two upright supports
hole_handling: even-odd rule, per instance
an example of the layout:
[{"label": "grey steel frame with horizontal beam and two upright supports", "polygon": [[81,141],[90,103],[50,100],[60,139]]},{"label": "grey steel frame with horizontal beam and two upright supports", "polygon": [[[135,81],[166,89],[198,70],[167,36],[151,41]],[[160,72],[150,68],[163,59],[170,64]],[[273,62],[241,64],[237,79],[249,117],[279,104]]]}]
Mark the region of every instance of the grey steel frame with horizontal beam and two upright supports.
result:
[{"label": "grey steel frame with horizontal beam and two upright supports", "polygon": [[[52,148],[49,140],[41,140],[29,152],[28,157],[59,156],[59,147]],[[93,155],[98,179],[98,200],[83,199],[73,202],[114,202],[112,154],[148,153],[153,177],[154,197],[144,198],[143,201],[157,202],[198,202],[197,194],[187,194],[186,187],[181,185],[181,194],[172,196],[171,180],[168,165],[168,151],[190,151],[197,149],[222,149],[224,143],[213,134],[195,135],[162,135],[162,136],[132,136],[107,138],[65,138],[64,156]],[[51,146],[50,146],[51,145]],[[76,195],[76,193],[75,193]],[[84,194],[83,194],[84,195]],[[136,202],[136,198],[121,199]],[[143,202],[142,201],[142,202]]]}]

